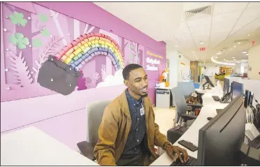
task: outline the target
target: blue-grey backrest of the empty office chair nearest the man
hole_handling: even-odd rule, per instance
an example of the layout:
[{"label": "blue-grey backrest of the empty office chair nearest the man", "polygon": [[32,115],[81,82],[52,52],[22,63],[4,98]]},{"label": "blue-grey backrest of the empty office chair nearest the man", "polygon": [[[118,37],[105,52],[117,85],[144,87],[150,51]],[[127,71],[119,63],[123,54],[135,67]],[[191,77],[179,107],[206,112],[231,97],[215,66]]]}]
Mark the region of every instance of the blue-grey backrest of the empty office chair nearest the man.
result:
[{"label": "blue-grey backrest of the empty office chair nearest the man", "polygon": [[178,115],[186,114],[187,103],[180,87],[174,87],[173,89],[171,89],[171,93],[173,94],[173,101],[176,110],[176,116],[173,124],[173,126],[175,126],[176,122],[178,121]]}]

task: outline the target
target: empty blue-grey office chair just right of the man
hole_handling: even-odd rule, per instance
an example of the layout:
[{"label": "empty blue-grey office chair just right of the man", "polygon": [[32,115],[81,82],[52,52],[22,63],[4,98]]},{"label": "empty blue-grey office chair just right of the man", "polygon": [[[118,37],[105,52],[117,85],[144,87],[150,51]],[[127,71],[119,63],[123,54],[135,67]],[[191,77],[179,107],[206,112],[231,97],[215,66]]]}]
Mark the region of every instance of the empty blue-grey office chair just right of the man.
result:
[{"label": "empty blue-grey office chair just right of the man", "polygon": [[[175,103],[176,112],[173,128],[167,131],[167,139],[171,143],[175,143],[185,133],[185,131],[189,129],[189,126],[187,126],[187,121],[196,119],[197,116],[187,114],[187,112],[192,110],[192,106],[196,106],[196,104],[191,104],[192,106],[188,106],[180,87],[171,89],[171,93],[173,94],[173,101]],[[178,122],[180,123],[178,126],[176,126]]]}]

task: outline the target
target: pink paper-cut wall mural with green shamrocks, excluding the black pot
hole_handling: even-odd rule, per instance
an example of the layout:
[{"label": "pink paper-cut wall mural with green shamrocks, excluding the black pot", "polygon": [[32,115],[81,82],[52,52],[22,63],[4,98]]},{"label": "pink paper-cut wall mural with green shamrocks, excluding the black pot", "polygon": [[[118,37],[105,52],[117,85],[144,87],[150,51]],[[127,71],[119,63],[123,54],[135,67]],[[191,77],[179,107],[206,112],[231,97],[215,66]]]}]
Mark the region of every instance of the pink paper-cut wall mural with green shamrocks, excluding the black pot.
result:
[{"label": "pink paper-cut wall mural with green shamrocks, excluding the black pot", "polygon": [[[1,32],[3,33],[4,54],[1,56],[4,57],[5,61],[3,69],[6,70],[5,76],[1,78],[5,82],[5,85],[2,85],[5,88],[1,93],[8,94],[8,96],[3,96],[1,101],[57,94],[39,85],[37,82],[39,70],[50,55],[60,54],[60,51],[66,46],[67,48],[75,48],[76,45],[70,47],[71,41],[77,38],[85,40],[84,34],[95,35],[91,50],[91,52],[96,53],[94,57],[90,54],[91,59],[89,59],[90,57],[84,55],[84,50],[88,50],[87,47],[82,48],[75,57],[70,57],[72,54],[70,52],[67,54],[68,57],[60,57],[64,59],[64,62],[69,61],[68,64],[82,74],[78,78],[74,90],[80,91],[104,85],[123,84],[122,78],[117,77],[121,68],[131,63],[145,65],[145,47],[143,45],[36,3],[32,3],[32,5],[35,13],[3,3],[3,17],[1,18],[3,29]],[[104,38],[104,43],[102,43],[102,40],[96,40],[96,36],[99,38],[109,37],[107,38],[109,41]],[[87,36],[88,39],[92,37]],[[84,43],[83,41],[80,41],[81,47],[89,42],[85,41]],[[106,43],[110,43],[107,48],[104,45]],[[116,50],[110,49],[113,43],[116,43]],[[79,45],[77,47],[80,48]],[[110,50],[110,52],[103,56],[102,52],[104,51],[96,50],[96,48],[103,48],[102,50]],[[77,51],[74,50],[74,52]],[[64,55],[66,54],[64,53]],[[116,73],[116,71],[118,72]],[[116,82],[112,80],[116,80]]]}]

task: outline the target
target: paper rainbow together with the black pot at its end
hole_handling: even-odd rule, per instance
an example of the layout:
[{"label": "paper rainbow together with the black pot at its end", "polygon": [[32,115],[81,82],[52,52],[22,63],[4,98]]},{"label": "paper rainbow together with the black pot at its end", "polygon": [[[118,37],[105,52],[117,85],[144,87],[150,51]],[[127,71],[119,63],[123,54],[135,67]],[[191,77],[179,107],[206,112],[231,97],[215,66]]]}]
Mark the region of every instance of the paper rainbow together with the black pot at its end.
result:
[{"label": "paper rainbow together with the black pot at its end", "polygon": [[50,55],[39,70],[37,82],[60,94],[71,94],[82,75],[80,69],[97,55],[109,57],[115,71],[124,68],[120,45],[105,34],[90,33],[76,38],[55,56]]}]

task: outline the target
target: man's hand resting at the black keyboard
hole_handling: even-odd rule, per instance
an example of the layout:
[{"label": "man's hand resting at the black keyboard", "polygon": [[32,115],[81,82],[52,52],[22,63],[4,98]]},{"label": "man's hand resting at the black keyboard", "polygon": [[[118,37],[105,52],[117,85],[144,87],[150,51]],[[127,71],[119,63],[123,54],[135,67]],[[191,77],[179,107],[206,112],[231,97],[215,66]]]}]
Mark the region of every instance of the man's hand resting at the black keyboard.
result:
[{"label": "man's hand resting at the black keyboard", "polygon": [[[178,157],[182,163],[187,162],[187,160],[188,160],[189,156],[188,156],[187,151],[185,149],[182,149],[181,147],[174,146],[174,145],[166,145],[165,150],[166,150],[168,156],[171,157],[172,159],[175,159],[173,154],[178,154]],[[182,153],[183,159],[182,159],[182,156],[180,153]]]}]

